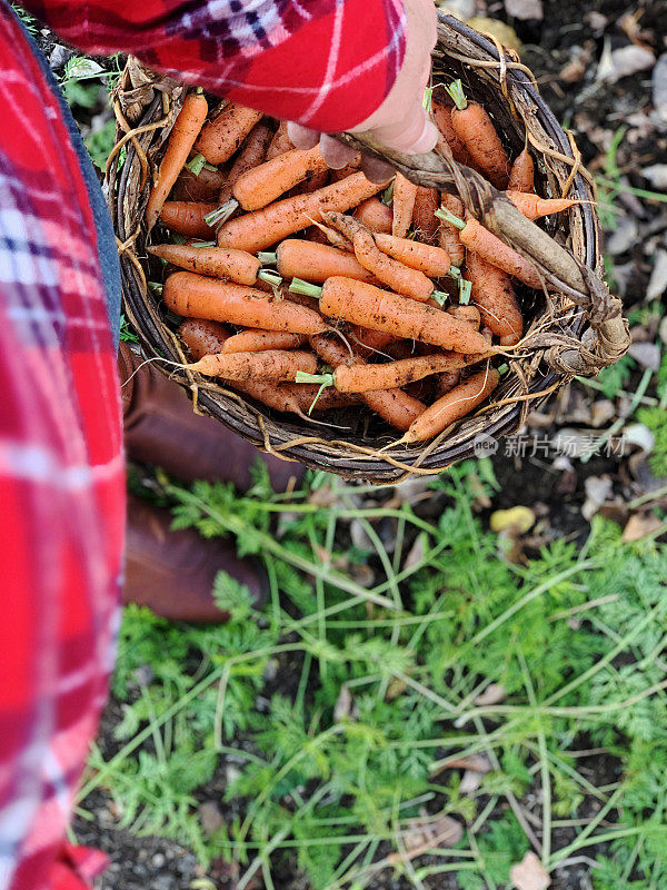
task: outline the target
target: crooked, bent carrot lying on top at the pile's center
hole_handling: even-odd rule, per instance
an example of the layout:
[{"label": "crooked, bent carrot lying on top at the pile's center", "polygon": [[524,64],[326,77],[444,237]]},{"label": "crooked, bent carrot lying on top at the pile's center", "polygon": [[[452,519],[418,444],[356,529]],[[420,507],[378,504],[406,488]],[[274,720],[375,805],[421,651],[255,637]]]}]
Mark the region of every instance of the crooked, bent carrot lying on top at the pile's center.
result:
[{"label": "crooked, bent carrot lying on top at the pile's center", "polygon": [[425,303],[434,293],[434,283],[422,271],[405,266],[384,254],[372,234],[359,220],[345,214],[329,212],[325,221],[352,241],[355,256],[375,277],[397,294]]}]

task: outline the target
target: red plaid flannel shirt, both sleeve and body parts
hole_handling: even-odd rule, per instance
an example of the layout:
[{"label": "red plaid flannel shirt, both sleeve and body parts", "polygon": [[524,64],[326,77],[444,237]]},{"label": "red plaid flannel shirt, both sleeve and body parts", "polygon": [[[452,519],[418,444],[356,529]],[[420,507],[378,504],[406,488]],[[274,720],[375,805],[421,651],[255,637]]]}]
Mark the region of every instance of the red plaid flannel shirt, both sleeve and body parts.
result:
[{"label": "red plaid flannel shirt, both sleeve and body parts", "polygon": [[[26,6],[89,52],[132,51],[321,130],[371,113],[405,48],[400,0]],[[63,843],[112,666],[125,524],[98,238],[59,99],[0,0],[0,890],[79,890],[100,864]]]}]

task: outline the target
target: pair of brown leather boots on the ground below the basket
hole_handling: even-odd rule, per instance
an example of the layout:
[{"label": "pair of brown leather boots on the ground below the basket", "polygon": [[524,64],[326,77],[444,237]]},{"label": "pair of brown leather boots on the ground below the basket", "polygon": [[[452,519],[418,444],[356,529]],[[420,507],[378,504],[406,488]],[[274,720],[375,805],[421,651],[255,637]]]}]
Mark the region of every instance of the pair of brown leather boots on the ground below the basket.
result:
[{"label": "pair of brown leather boots on the ground below the basket", "polygon": [[[195,414],[181,388],[151,365],[139,368],[141,360],[121,343],[118,369],[129,457],[157,464],[183,482],[221,479],[239,491],[250,486],[258,455],[278,491],[302,478],[299,464],[262,454],[217,421]],[[168,511],[129,497],[123,602],[147,605],[173,621],[226,621],[211,596],[219,571],[246,584],[257,602],[263,600],[267,584],[258,563],[239,560],[227,542],[207,541],[193,530],[172,531]]]}]

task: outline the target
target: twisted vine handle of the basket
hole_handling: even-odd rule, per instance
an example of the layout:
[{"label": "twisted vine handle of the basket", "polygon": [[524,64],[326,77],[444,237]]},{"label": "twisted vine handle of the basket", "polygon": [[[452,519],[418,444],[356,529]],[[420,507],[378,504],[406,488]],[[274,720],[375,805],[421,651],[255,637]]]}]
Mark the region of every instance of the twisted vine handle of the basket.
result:
[{"label": "twisted vine handle of the basket", "polygon": [[[419,186],[458,195],[476,219],[535,264],[547,288],[566,294],[583,308],[590,328],[581,342],[564,337],[563,342],[554,343],[551,336],[541,344],[554,370],[595,375],[627,352],[630,340],[620,299],[611,296],[588,266],[527,219],[476,170],[439,151],[404,155],[388,149],[368,134],[338,134],[337,138],[389,161]],[[530,345],[539,347],[538,340],[539,335],[531,338]]]}]

